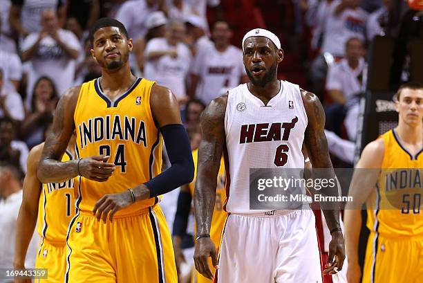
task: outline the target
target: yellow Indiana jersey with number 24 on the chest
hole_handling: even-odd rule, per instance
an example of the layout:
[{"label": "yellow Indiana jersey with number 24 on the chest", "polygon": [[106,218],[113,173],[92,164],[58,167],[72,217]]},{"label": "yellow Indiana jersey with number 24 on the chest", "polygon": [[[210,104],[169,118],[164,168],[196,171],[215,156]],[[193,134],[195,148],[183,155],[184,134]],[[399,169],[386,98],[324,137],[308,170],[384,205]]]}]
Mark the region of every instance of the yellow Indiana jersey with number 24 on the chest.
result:
[{"label": "yellow Indiana jersey with number 24 on the chest", "polygon": [[[82,84],[79,92],[74,116],[77,157],[105,154],[116,169],[106,182],[79,178],[75,194],[82,211],[91,211],[104,194],[124,192],[149,181],[162,168],[162,137],[150,109],[154,82],[138,78],[128,91],[111,101],[99,80]],[[136,214],[158,201],[157,197],[140,201],[116,212],[115,217]]]}]

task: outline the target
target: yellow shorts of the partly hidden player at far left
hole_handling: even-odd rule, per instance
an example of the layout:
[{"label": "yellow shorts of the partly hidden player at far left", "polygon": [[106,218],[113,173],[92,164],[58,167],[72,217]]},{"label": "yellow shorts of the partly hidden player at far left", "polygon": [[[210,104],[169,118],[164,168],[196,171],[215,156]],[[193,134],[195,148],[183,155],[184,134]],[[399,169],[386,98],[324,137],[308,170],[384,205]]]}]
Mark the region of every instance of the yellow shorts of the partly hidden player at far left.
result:
[{"label": "yellow shorts of the partly hidden player at far left", "polygon": [[63,283],[66,272],[66,251],[67,246],[63,241],[41,239],[35,268],[46,268],[48,278],[36,279],[36,283]]}]

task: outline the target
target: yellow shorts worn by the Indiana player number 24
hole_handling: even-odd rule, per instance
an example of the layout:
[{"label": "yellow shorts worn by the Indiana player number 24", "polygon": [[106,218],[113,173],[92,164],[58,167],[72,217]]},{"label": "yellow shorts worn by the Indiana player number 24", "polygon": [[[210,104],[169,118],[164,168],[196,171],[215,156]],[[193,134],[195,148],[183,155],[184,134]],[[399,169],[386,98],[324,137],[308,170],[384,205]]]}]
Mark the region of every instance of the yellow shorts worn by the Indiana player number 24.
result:
[{"label": "yellow shorts worn by the Indiana player number 24", "polygon": [[158,205],[106,223],[79,212],[67,244],[66,283],[178,282],[171,235]]}]

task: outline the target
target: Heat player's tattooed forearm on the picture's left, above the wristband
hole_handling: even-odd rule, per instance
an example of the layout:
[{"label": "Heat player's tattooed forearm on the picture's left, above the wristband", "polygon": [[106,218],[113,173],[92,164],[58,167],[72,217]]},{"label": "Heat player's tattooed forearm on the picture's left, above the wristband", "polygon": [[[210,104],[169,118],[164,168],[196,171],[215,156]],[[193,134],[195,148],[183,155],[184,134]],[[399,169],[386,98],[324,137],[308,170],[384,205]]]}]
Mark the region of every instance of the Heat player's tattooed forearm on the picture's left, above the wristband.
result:
[{"label": "Heat player's tattooed forearm on the picture's left, above the wristband", "polygon": [[[214,179],[216,180],[216,178]],[[216,182],[206,185],[197,179],[196,190],[194,192],[197,235],[210,234],[215,201]]]}]

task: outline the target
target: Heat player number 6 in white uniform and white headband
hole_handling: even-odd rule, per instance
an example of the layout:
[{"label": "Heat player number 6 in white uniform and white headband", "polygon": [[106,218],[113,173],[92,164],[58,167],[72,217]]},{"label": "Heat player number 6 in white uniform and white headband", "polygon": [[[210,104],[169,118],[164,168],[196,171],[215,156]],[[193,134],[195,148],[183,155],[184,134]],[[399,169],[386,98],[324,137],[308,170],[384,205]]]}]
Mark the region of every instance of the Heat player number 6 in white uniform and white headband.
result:
[{"label": "Heat player number 6 in white uniform and white headband", "polygon": [[[322,282],[312,210],[250,210],[250,168],[303,168],[303,142],[312,167],[332,172],[323,107],[314,94],[277,80],[282,60],[276,35],[260,28],[248,32],[243,39],[243,62],[250,82],[213,100],[201,118],[194,261],[202,275],[218,283]],[[218,259],[209,231],[222,152],[229,217]],[[323,213],[332,234],[323,272],[335,274],[345,257],[339,210]],[[208,257],[218,268],[214,276]]]}]

